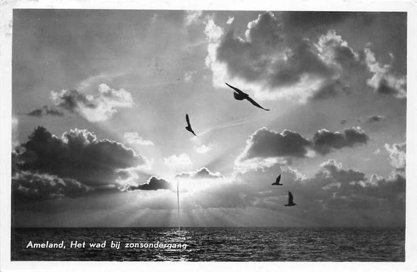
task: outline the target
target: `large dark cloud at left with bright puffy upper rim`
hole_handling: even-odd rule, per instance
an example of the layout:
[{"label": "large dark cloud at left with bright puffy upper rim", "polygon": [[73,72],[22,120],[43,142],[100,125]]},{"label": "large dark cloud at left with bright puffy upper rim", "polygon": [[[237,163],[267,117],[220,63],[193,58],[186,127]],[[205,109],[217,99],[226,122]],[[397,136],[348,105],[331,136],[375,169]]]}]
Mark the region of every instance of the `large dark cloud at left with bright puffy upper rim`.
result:
[{"label": "large dark cloud at left with bright puffy upper rim", "polygon": [[147,160],[131,148],[111,140],[97,140],[87,131],[72,129],[61,138],[38,127],[19,146],[15,168],[73,178],[88,186],[114,184],[118,170],[144,165]]}]

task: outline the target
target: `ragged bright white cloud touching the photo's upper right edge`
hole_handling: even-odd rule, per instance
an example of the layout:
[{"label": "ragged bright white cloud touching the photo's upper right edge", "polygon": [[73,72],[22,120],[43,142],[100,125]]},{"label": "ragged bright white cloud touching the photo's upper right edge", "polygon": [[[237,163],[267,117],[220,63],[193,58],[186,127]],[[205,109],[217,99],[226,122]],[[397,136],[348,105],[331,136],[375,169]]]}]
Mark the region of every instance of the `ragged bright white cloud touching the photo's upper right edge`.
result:
[{"label": "ragged bright white cloud touching the photo's upper right edge", "polygon": [[365,48],[366,63],[373,76],[367,84],[374,92],[382,95],[393,95],[403,99],[407,97],[407,77],[396,72],[391,64],[381,65],[376,61],[370,48]]}]

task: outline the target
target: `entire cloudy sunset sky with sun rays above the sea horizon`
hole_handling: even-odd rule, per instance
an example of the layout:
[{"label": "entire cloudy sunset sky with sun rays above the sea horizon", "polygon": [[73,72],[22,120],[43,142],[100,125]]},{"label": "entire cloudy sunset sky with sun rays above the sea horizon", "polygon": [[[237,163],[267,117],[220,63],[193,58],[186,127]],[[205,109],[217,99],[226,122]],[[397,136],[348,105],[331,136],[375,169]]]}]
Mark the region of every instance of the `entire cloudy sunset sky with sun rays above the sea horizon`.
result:
[{"label": "entire cloudy sunset sky with sun rays above the sea horizon", "polygon": [[406,21],[14,10],[13,225],[404,226]]}]

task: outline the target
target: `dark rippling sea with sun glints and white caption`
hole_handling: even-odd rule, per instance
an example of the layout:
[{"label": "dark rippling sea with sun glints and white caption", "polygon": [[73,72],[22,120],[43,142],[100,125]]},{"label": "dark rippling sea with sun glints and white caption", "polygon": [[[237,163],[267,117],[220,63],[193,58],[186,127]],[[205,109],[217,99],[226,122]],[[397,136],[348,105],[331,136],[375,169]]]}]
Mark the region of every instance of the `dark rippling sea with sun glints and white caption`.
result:
[{"label": "dark rippling sea with sun glints and white caption", "polygon": [[[26,248],[61,243],[59,248]],[[71,248],[85,241],[85,248]],[[89,243],[103,243],[91,248]],[[111,248],[120,242],[120,248]],[[17,228],[12,261],[404,261],[404,228]],[[125,248],[132,243],[133,248]],[[136,243],[136,245],[134,245]],[[142,243],[142,248],[140,244]],[[145,248],[158,243],[158,248]],[[169,249],[168,244],[181,243]],[[145,245],[146,244],[146,245]],[[159,248],[166,244],[165,248]],[[184,249],[184,245],[187,245]],[[137,247],[134,247],[137,246]]]}]

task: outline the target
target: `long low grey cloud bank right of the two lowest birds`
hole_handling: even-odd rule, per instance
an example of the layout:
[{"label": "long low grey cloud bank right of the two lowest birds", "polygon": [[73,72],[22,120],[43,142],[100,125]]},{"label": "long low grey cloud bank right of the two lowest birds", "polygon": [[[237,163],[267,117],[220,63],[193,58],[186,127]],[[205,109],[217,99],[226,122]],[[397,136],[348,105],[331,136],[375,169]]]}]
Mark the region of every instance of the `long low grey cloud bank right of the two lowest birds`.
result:
[{"label": "long low grey cloud bank right of the two lowest birds", "polygon": [[[370,178],[361,171],[345,170],[341,163],[328,160],[320,165],[311,177],[301,176],[289,168],[282,172],[285,185],[294,194],[294,201],[308,207],[309,214],[316,219],[323,213],[340,213],[340,210],[361,210],[385,207],[403,208],[405,204],[405,178],[402,175]],[[258,207],[276,209],[283,200],[265,201],[268,194],[257,196]]]}]

